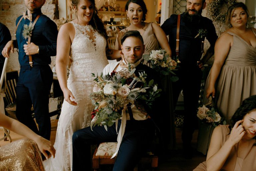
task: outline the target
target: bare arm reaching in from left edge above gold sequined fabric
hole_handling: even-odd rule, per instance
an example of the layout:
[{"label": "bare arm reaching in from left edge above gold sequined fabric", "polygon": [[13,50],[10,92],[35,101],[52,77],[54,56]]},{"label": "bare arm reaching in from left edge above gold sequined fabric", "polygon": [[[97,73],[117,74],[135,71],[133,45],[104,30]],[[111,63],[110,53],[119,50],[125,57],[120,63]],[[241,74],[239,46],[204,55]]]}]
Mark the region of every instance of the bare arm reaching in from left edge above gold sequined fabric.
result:
[{"label": "bare arm reaching in from left edge above gold sequined fabric", "polygon": [[[53,156],[53,158],[55,157],[55,149],[51,144],[51,142],[37,135],[31,129],[29,129],[26,125],[20,123],[19,121],[16,121],[15,119],[9,118],[8,116],[5,116],[4,114],[0,113],[0,126],[3,126],[19,135],[22,135],[24,137],[34,140],[37,143],[40,151],[43,153],[43,155],[47,159],[51,155]],[[48,155],[46,151],[49,151],[50,155]]]}]

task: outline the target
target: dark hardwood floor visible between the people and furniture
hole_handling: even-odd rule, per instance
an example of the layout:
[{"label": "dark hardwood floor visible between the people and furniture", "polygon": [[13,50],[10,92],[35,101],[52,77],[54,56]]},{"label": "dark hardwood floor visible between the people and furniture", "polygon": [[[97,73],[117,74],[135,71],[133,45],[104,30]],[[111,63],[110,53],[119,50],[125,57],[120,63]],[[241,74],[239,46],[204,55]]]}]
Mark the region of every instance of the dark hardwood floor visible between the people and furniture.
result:
[{"label": "dark hardwood floor visible between the people and furniture", "polygon": [[[50,141],[54,143],[56,129],[57,129],[57,122],[55,120],[52,122],[52,131],[51,131],[51,139]],[[181,140],[181,130],[176,129],[176,150],[166,150],[165,155],[159,158],[159,166],[157,171],[192,171],[199,163],[206,160],[206,156],[196,152],[192,159],[185,159],[182,157],[182,140]],[[197,142],[197,133],[198,130],[194,132],[192,146],[196,148]],[[0,136],[3,136],[3,130],[0,129]],[[24,138],[14,132],[10,133],[12,141]],[[9,141],[0,141],[0,146],[8,144]],[[102,170],[103,171],[103,170]]]}]

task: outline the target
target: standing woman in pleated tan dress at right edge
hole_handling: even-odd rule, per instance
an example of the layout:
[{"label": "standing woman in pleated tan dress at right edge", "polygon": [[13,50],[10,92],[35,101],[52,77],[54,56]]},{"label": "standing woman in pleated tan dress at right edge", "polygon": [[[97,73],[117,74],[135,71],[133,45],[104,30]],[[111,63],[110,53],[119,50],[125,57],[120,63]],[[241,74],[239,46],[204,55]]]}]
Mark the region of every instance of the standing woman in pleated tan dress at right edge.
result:
[{"label": "standing woman in pleated tan dress at right edge", "polygon": [[243,99],[256,94],[256,29],[246,28],[248,17],[242,2],[228,9],[226,21],[231,28],[216,41],[206,83],[206,98],[216,98],[227,122]]}]

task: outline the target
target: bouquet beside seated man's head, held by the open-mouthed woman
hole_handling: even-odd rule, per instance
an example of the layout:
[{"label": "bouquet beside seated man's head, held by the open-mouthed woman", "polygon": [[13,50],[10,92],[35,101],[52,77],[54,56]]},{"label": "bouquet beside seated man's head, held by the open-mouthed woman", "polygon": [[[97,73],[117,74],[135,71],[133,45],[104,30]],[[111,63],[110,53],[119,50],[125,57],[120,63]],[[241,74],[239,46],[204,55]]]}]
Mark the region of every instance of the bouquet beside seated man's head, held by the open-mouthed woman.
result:
[{"label": "bouquet beside seated man's head, held by the open-mouthed woman", "polygon": [[165,50],[152,50],[149,55],[143,55],[143,59],[150,61],[152,68],[162,75],[172,74],[171,80],[173,82],[179,79],[173,71],[176,70],[180,61],[179,59],[173,60]]}]

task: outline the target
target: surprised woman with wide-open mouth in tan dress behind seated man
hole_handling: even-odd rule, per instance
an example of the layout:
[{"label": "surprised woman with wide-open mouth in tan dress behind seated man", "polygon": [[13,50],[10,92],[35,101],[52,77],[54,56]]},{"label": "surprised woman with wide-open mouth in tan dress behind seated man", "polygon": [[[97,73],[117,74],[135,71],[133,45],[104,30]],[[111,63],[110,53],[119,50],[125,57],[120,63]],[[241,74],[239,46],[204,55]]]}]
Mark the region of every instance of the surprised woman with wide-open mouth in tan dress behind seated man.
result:
[{"label": "surprised woman with wide-open mouth in tan dress behind seated man", "polygon": [[[116,39],[116,49],[121,50],[121,36],[129,30],[137,30],[140,32],[144,45],[144,54],[149,54],[152,50],[164,49],[167,54],[171,56],[171,48],[168,39],[160,26],[156,23],[144,22],[146,20],[147,8],[143,0],[128,0],[126,5],[127,18],[130,20],[130,26],[122,29]],[[142,59],[143,60],[143,59]],[[148,65],[146,61],[143,64]],[[159,104],[159,113],[161,117],[156,121],[160,127],[161,135],[163,137],[164,146],[168,149],[175,147],[175,125],[174,125],[174,107],[172,97],[172,87],[170,76],[166,75],[162,79],[162,98],[165,98],[166,104]],[[164,97],[163,97],[164,96]],[[162,111],[161,111],[162,110]],[[164,119],[163,119],[164,118]],[[164,121],[164,123],[162,123]],[[162,128],[161,128],[162,126]]]}]

